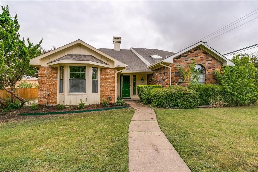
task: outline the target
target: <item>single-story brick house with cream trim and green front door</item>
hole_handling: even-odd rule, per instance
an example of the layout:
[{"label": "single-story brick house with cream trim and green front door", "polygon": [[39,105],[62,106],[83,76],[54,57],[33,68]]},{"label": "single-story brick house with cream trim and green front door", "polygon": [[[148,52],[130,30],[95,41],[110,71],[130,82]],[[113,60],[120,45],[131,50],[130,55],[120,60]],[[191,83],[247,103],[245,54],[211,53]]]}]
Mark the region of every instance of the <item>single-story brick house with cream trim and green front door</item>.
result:
[{"label": "single-story brick house with cream trim and green front door", "polygon": [[177,52],[157,49],[120,49],[121,37],[113,37],[113,49],[76,40],[30,60],[38,67],[38,104],[97,104],[117,96],[137,99],[137,85],[182,84],[183,68],[196,59],[199,83],[215,83],[213,71],[234,65],[204,42]]}]

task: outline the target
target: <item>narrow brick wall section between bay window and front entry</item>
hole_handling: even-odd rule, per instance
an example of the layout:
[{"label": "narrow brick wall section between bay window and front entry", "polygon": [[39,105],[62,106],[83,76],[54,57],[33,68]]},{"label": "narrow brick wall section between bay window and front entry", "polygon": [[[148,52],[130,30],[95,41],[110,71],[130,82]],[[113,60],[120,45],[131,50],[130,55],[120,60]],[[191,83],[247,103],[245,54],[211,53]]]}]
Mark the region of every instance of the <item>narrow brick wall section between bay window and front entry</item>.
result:
[{"label": "narrow brick wall section between bay window and front entry", "polygon": [[100,102],[111,97],[108,103],[115,102],[115,75],[116,69],[101,68],[100,69]]}]

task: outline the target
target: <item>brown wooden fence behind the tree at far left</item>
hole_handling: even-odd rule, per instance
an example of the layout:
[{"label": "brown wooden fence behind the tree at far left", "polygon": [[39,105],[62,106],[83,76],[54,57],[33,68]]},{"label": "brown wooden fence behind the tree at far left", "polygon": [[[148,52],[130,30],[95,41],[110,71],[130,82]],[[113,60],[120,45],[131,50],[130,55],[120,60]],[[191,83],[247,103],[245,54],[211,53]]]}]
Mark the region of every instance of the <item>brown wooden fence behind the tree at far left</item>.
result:
[{"label": "brown wooden fence behind the tree at far left", "polygon": [[[1,90],[1,97],[5,98],[6,94],[10,97],[11,93]],[[17,88],[16,95],[24,98],[25,100],[32,100],[38,98],[38,88]]]}]

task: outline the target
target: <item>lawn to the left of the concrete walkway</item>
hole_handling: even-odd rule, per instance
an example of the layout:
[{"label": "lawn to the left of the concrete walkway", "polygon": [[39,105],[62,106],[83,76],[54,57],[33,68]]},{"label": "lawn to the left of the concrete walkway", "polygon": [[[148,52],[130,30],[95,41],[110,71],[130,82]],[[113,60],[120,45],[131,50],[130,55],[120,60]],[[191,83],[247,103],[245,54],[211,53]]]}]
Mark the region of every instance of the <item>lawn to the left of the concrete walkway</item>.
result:
[{"label": "lawn to the left of the concrete walkway", "polygon": [[1,125],[1,167],[10,171],[128,171],[132,108],[41,116]]}]

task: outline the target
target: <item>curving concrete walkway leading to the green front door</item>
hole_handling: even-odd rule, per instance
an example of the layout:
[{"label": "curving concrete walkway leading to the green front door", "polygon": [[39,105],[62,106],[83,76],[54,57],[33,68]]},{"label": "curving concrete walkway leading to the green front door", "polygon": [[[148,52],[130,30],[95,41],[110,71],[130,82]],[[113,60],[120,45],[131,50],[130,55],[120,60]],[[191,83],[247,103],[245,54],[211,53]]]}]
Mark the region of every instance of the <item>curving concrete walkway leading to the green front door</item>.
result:
[{"label": "curving concrete walkway leading to the green front door", "polygon": [[129,126],[129,171],[191,171],[164,133],[155,112],[132,100],[135,109]]}]

